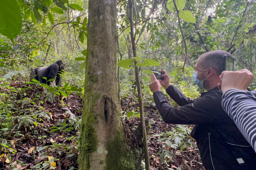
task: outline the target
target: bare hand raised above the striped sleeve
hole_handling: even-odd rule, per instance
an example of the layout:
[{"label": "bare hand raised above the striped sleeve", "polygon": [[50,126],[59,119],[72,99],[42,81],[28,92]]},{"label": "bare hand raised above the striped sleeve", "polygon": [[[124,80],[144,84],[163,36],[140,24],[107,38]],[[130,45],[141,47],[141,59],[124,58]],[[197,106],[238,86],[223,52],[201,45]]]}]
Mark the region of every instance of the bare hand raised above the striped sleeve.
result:
[{"label": "bare hand raised above the striped sleeve", "polygon": [[247,69],[238,71],[223,71],[219,76],[221,83],[218,87],[225,93],[229,89],[247,90],[254,75]]}]

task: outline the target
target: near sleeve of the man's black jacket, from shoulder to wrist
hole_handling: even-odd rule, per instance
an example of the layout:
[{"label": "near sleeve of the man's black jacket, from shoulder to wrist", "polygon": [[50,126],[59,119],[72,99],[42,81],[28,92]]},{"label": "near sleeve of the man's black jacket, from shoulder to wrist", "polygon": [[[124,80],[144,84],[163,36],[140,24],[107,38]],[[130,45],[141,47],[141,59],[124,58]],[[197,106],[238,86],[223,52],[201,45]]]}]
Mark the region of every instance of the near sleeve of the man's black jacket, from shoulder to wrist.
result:
[{"label": "near sleeve of the man's black jacket, from shoulder to wrist", "polygon": [[218,121],[221,108],[221,94],[214,91],[198,98],[191,104],[173,108],[161,91],[153,93],[156,107],[163,121],[170,124],[200,124]]}]

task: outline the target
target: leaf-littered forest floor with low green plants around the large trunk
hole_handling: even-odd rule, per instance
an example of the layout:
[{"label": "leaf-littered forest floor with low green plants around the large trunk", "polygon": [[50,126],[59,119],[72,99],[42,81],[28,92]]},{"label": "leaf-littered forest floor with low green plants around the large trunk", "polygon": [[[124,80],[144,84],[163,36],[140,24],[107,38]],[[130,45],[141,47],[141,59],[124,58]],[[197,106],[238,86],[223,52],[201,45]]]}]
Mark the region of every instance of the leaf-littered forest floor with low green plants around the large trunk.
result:
[{"label": "leaf-littered forest floor with low green plants around the large trunk", "polygon": [[[33,93],[43,94],[42,87],[27,87],[21,81],[14,81],[5,89],[17,100],[14,101],[13,114],[6,115],[9,118],[6,123],[9,121],[12,129],[0,129],[0,169],[78,169],[77,138],[82,98],[71,94],[63,102],[45,101],[42,104],[42,98],[31,99]],[[21,93],[23,95],[20,96]],[[32,104],[20,102],[28,98],[33,100]],[[127,98],[124,98],[121,103],[127,104],[126,101]],[[128,108],[129,112],[134,110],[136,113],[138,102],[131,102]],[[165,124],[152,104],[145,106],[144,113],[145,120],[149,122],[148,149],[152,170],[204,170],[195,140],[189,137],[193,127]],[[4,112],[0,116],[4,116]],[[136,114],[129,117],[124,115],[122,119],[131,131],[136,130],[140,120]]]}]

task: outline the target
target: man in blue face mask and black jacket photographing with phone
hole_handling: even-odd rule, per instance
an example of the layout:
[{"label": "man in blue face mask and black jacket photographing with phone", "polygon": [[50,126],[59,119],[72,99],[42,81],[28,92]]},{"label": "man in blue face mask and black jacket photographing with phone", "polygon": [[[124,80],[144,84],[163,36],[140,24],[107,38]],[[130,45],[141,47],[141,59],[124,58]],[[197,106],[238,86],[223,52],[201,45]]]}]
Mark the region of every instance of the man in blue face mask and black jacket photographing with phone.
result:
[{"label": "man in blue face mask and black jacket photographing with phone", "polygon": [[[249,170],[256,167],[256,153],[240,133],[233,120],[221,107],[222,91],[218,88],[222,70],[222,56],[231,56],[222,50],[202,54],[193,73],[194,82],[207,92],[201,97],[190,99],[170,84],[164,71],[164,80],[150,74],[156,107],[164,122],[170,124],[193,124],[191,136],[197,146],[206,170]],[[173,108],[161,92],[167,94],[181,107]]]}]

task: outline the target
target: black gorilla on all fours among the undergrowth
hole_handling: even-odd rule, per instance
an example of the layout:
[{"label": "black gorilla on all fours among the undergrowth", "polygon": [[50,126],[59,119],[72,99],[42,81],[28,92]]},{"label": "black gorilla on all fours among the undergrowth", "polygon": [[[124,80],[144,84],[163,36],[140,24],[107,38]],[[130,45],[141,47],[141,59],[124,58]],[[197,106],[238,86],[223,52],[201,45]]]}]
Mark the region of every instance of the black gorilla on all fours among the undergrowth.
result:
[{"label": "black gorilla on all fours among the undergrowth", "polygon": [[[54,79],[56,77],[56,86],[61,86],[62,78],[60,76],[61,73],[65,71],[64,64],[62,60],[58,60],[55,63],[46,66],[46,67],[37,67],[33,69],[30,73],[30,81],[32,79],[36,79],[37,81],[41,81],[42,83],[49,86],[50,85],[50,79]],[[47,80],[43,79],[43,77],[46,77]]]}]

